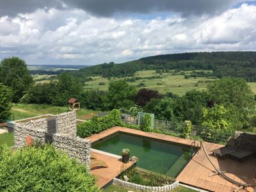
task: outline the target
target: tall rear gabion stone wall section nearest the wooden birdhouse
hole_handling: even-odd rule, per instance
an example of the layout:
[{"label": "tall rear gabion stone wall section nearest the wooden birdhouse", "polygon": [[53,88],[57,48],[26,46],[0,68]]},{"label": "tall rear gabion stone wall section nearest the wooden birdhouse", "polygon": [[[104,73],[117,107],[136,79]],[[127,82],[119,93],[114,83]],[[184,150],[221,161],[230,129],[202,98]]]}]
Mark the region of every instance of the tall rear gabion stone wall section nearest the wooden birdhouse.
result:
[{"label": "tall rear gabion stone wall section nearest the wooden birdhouse", "polygon": [[56,116],[57,134],[76,136],[76,111],[61,113]]}]

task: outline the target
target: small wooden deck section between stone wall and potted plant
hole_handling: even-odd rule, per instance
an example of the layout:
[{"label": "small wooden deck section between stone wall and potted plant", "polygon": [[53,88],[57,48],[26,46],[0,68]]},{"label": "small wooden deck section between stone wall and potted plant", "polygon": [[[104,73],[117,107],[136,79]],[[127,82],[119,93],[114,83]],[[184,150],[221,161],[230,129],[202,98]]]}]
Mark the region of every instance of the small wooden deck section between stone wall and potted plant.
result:
[{"label": "small wooden deck section between stone wall and potted plant", "polygon": [[99,188],[104,187],[111,180],[117,177],[121,170],[127,170],[127,168],[131,167],[133,164],[131,161],[129,161],[129,163],[122,163],[121,159],[119,158],[98,152],[92,152],[92,154],[93,156],[97,157],[97,159],[100,159],[108,164],[108,168],[99,168],[91,171],[92,174],[98,179],[96,184],[99,186]]}]

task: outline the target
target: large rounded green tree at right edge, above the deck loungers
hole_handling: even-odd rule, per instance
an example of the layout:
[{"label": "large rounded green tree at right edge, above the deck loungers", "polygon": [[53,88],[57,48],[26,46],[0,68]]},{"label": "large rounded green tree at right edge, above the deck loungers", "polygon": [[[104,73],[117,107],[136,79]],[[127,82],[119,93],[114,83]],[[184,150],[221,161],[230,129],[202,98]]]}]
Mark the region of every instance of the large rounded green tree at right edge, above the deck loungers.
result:
[{"label": "large rounded green tree at right edge, above the deck loungers", "polygon": [[208,84],[207,91],[212,103],[222,104],[232,116],[237,128],[248,126],[248,115],[255,109],[252,89],[244,79],[228,77]]}]

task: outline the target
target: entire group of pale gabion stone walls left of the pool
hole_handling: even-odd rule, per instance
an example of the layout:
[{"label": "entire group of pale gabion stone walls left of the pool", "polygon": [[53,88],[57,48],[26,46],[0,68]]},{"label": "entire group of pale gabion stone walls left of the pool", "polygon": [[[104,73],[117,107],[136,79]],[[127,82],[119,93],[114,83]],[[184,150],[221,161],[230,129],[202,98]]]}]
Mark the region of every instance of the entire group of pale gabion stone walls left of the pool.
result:
[{"label": "entire group of pale gabion stone walls left of the pool", "polygon": [[[26,146],[26,137],[31,136],[33,141],[45,143],[45,132],[47,132],[47,118],[20,122],[14,125],[15,147]],[[91,141],[76,137],[76,112],[61,113],[56,116],[56,134],[47,133],[52,139],[52,144],[63,150],[72,158],[78,159],[80,163],[90,165]]]}]

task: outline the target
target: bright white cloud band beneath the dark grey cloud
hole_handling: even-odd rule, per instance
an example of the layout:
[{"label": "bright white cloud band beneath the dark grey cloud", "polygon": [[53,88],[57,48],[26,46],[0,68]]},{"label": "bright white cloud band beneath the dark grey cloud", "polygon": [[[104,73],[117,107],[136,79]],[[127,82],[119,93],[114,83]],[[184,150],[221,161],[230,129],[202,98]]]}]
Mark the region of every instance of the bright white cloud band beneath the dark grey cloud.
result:
[{"label": "bright white cloud band beneath the dark grey cloud", "polygon": [[256,49],[256,6],[214,17],[104,18],[83,10],[36,10],[0,18],[0,59],[98,64],[185,51]]}]

